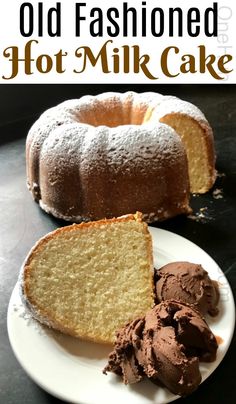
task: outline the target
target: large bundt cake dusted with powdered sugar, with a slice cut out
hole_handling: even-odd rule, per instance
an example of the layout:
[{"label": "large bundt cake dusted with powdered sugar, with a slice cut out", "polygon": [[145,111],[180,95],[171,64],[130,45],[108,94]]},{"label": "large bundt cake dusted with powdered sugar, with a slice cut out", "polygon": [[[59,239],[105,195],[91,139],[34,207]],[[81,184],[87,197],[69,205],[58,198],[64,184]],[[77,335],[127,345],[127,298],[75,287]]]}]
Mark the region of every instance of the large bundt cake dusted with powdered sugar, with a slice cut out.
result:
[{"label": "large bundt cake dusted with powdered sugar, with a slice cut out", "polygon": [[34,199],[73,222],[136,210],[148,222],[189,213],[189,190],[212,187],[214,161],[202,112],[152,92],[65,101],[41,115],[26,143]]}]

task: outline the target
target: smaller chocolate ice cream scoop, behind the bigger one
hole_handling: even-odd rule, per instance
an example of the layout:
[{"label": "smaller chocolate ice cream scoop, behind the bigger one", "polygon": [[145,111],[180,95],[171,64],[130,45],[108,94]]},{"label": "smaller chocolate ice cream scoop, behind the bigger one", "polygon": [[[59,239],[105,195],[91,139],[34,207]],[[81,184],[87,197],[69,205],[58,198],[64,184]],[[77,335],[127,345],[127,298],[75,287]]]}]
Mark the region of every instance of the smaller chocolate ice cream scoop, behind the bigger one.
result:
[{"label": "smaller chocolate ice cream scoop, behind the bigger one", "polygon": [[173,262],[155,271],[157,302],[176,299],[194,305],[203,315],[218,314],[219,289],[201,265]]}]

